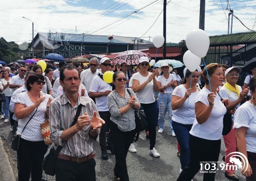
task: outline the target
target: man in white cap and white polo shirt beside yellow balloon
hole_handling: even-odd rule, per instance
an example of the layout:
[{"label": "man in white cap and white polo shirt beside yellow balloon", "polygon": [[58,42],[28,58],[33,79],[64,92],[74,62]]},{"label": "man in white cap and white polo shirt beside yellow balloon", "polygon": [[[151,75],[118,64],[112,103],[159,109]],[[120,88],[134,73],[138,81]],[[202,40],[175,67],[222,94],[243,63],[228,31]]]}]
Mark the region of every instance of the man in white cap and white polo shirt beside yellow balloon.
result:
[{"label": "man in white cap and white polo shirt beside yellow balloon", "polygon": [[94,97],[96,99],[97,110],[99,111],[100,117],[105,121],[105,124],[101,127],[100,130],[100,148],[101,148],[101,159],[107,160],[108,154],[107,149],[109,149],[113,153],[113,147],[111,144],[111,134],[106,141],[106,132],[107,127],[110,121],[111,114],[109,113],[107,107],[107,96],[112,91],[112,86],[107,84],[103,80],[103,74],[106,71],[111,71],[111,60],[104,57],[100,60],[101,72],[93,78],[92,84],[90,85],[89,96]]}]

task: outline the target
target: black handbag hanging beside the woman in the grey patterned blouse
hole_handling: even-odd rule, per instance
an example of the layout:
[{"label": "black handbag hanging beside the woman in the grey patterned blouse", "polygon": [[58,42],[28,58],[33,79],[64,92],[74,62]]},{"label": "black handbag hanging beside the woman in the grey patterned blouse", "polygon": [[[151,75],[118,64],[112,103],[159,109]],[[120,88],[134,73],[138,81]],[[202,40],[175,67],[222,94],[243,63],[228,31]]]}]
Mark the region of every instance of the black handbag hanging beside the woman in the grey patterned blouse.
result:
[{"label": "black handbag hanging beside the woman in the grey patterned blouse", "polygon": [[[131,96],[131,92],[129,91],[129,89],[126,89],[126,90]],[[136,123],[135,131],[136,133],[142,132],[148,127],[147,117],[144,114],[143,108],[141,107],[141,109],[139,110],[134,110],[134,114],[135,114],[135,123]]]}]

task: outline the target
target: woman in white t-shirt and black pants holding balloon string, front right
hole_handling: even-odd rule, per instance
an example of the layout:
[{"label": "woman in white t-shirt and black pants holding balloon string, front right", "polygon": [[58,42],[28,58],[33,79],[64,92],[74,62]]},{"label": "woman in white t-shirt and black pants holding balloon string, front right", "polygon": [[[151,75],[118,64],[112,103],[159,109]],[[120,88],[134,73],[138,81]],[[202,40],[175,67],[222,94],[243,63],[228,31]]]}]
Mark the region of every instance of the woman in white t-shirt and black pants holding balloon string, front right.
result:
[{"label": "woman in white t-shirt and black pants holding balloon string, front right", "polygon": [[[206,68],[209,76],[206,73]],[[204,173],[204,180],[215,180],[215,171],[221,150],[223,116],[227,112],[227,108],[216,93],[218,86],[221,86],[223,82],[222,65],[207,65],[203,75],[205,87],[198,93],[194,101],[196,118],[190,130],[190,162],[180,173],[178,181],[191,180],[200,169],[208,170],[208,166],[211,172]],[[230,104],[228,99],[223,102],[227,107]],[[202,161],[205,164],[202,164]]]}]

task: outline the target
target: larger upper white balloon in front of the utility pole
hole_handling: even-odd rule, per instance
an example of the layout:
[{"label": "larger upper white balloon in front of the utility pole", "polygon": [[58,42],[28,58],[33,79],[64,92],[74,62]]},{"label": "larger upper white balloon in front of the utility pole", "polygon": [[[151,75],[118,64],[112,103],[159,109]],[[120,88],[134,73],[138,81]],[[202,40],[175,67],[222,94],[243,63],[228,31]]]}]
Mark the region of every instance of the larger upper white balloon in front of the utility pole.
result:
[{"label": "larger upper white balloon in front of the utility pole", "polygon": [[205,57],[210,46],[209,36],[202,29],[194,29],[187,34],[186,46],[198,57]]}]

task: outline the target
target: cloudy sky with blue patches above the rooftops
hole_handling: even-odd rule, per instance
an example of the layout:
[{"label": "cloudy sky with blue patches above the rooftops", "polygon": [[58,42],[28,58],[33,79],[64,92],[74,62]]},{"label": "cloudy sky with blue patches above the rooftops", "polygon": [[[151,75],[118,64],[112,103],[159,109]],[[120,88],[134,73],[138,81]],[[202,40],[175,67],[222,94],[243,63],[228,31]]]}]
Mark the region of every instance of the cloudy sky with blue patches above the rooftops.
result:
[{"label": "cloudy sky with blue patches above the rooftops", "polygon": [[[137,38],[142,36],[143,39],[152,41],[155,35],[163,33],[163,13],[160,15],[163,1],[155,1],[1,0],[0,37],[18,44],[24,41],[30,42],[32,22],[22,18],[25,16],[34,22],[34,36],[38,32],[51,30],[54,33],[119,35]],[[167,2],[169,2],[167,4],[167,42],[179,42],[186,39],[186,34],[190,30],[198,28],[200,0],[167,0]],[[153,4],[149,5],[150,3]],[[256,0],[229,0],[229,4],[234,14],[249,29],[253,29]],[[223,11],[223,8],[224,10],[227,8],[227,0],[206,0],[205,31],[209,35],[227,34],[228,22],[225,14],[228,16],[228,11]],[[137,11],[138,9],[141,10]],[[151,27],[158,16],[158,20]],[[233,33],[247,31],[248,29],[234,18]]]}]

